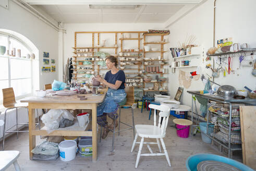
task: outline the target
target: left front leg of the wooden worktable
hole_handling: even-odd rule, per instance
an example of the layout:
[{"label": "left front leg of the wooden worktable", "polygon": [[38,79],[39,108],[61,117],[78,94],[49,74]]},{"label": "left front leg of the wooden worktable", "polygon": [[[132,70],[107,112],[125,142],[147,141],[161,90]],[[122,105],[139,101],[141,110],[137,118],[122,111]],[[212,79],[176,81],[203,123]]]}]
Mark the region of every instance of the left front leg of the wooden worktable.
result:
[{"label": "left front leg of the wooden worktable", "polygon": [[33,153],[31,150],[35,148],[35,136],[32,135],[32,130],[35,130],[34,109],[29,106],[29,158],[32,160]]}]

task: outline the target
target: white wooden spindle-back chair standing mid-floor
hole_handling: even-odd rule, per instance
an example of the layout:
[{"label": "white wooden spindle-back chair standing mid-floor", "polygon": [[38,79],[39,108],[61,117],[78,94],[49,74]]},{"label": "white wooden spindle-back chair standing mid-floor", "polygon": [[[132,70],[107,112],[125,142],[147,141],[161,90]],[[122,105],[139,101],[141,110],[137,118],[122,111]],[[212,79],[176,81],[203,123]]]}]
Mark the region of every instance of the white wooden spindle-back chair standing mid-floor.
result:
[{"label": "white wooden spindle-back chair standing mid-floor", "polygon": [[[140,144],[135,167],[136,168],[138,167],[140,156],[156,156],[156,155],[157,156],[165,155],[168,165],[170,166],[169,156],[166,151],[164,140],[163,140],[163,138],[165,137],[165,130],[166,130],[166,127],[168,124],[170,108],[166,105],[155,105],[155,104],[150,104],[149,107],[154,109],[154,125],[136,125],[135,126],[136,135],[135,135],[135,139],[133,141],[132,147],[131,147],[131,152],[133,151],[136,143]],[[158,126],[156,126],[156,110],[160,111]],[[162,121],[162,125],[161,125],[162,118],[163,118],[163,121]],[[140,142],[136,142],[138,136],[141,137]],[[144,138],[155,138],[156,142],[144,142]],[[161,151],[159,139],[161,140],[161,143],[162,143],[162,146],[164,149],[164,153],[161,153],[162,151]],[[142,149],[143,144],[147,144],[147,147],[148,147],[150,153],[141,154],[141,149]],[[160,153],[153,153],[149,144],[157,144],[159,147]]]}]

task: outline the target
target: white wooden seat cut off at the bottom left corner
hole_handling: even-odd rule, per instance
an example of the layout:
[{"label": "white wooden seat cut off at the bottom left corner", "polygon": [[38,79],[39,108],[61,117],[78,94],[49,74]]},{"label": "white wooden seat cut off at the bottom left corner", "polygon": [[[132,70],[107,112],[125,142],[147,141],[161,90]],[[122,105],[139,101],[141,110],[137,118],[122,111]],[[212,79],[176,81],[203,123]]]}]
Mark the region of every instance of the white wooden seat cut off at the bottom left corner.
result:
[{"label": "white wooden seat cut off at the bottom left corner", "polygon": [[0,151],[0,171],[6,170],[11,164],[14,164],[15,170],[20,171],[20,166],[17,162],[19,151]]}]

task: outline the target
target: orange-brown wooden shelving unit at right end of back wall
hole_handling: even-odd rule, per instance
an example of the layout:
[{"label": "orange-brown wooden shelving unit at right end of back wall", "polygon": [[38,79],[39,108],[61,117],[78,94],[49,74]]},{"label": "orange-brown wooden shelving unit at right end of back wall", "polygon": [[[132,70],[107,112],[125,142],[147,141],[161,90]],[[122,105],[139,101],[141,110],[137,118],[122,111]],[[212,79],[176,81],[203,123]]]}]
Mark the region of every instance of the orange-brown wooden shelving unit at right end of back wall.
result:
[{"label": "orange-brown wooden shelving unit at right end of back wall", "polygon": [[[158,44],[160,45],[160,51],[143,51],[143,62],[159,62],[159,61],[162,61],[162,62],[165,62],[167,59],[164,59],[164,53],[167,52],[167,51],[164,51],[163,49],[163,45],[168,43],[168,42],[164,42],[164,36],[165,35],[168,35],[166,33],[144,33],[143,34],[143,40],[144,40],[144,45],[147,45],[147,44]],[[147,42],[146,41],[146,38],[147,36],[161,36],[161,40],[159,42]],[[161,58],[160,59],[153,59],[153,60],[146,60],[146,54],[148,53],[160,53],[161,55]],[[160,74],[161,77],[163,77],[164,74],[166,73],[161,73],[161,72],[147,72],[146,68],[147,66],[148,67],[151,67],[151,66],[160,66],[160,70],[162,70],[164,68],[165,65],[168,65],[168,64],[153,64],[153,65],[145,65],[143,64],[143,70],[145,71],[145,73],[143,73],[143,75],[147,75],[147,74]],[[146,83],[160,83],[161,84],[161,87],[163,87],[163,83],[165,83],[166,81],[157,81],[157,82],[151,82],[151,81],[143,81],[143,87],[145,88],[145,84]],[[144,90],[144,92],[154,92],[155,90]],[[167,90],[162,90],[162,91],[167,91]],[[156,91],[155,91],[156,92]]]}]

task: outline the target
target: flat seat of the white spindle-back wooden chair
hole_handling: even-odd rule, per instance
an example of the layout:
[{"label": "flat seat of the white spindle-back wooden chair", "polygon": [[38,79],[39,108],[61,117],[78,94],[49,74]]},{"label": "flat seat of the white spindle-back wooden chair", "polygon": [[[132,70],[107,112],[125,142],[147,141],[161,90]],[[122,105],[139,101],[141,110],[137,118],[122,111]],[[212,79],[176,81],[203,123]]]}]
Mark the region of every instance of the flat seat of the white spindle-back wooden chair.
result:
[{"label": "flat seat of the white spindle-back wooden chair", "polygon": [[164,138],[165,134],[162,135],[162,129],[154,125],[136,125],[136,132],[138,136],[144,138]]}]

